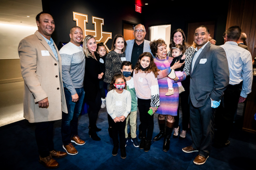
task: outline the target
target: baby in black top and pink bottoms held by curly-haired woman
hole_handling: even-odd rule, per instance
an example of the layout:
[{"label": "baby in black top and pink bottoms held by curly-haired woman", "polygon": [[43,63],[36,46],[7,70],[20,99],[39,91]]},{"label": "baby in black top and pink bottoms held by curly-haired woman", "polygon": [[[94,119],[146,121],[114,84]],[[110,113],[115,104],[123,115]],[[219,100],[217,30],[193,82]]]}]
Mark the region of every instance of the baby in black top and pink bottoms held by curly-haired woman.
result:
[{"label": "baby in black top and pink bottoms held by curly-haired woman", "polygon": [[[172,59],[172,62],[170,63],[170,67],[173,66],[173,64],[177,61],[179,61],[179,63],[184,62],[185,55],[182,55],[183,53],[184,53],[184,47],[181,44],[177,44],[175,47],[172,47],[171,55],[172,55],[173,59]],[[180,68],[176,68],[174,70],[177,77],[183,76],[183,68],[184,68],[184,64]],[[172,85],[175,82],[174,82],[174,80],[168,78],[167,83],[168,83],[168,92],[165,94],[165,96],[173,95],[174,92],[173,92]],[[179,93],[185,91],[181,82],[177,82],[177,85],[178,85]]]}]

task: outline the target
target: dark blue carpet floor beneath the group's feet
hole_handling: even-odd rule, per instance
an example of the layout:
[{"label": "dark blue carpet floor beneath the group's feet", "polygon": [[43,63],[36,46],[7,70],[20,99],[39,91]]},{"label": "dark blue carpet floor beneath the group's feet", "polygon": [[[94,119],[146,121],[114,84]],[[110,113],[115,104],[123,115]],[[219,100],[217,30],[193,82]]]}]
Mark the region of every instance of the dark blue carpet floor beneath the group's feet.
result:
[{"label": "dark blue carpet floor beneath the group's feet", "polygon": [[[180,117],[180,120],[182,117]],[[162,151],[163,139],[152,141],[149,152],[133,147],[129,140],[126,146],[126,159],[111,155],[113,144],[107,132],[106,109],[99,112],[97,127],[101,141],[93,141],[88,135],[88,115],[79,116],[78,135],[86,141],[83,146],[74,147],[78,154],[56,159],[58,170],[255,170],[256,140],[255,134],[241,130],[242,116],[236,117],[233,131],[230,134],[230,146],[227,148],[212,148],[206,163],[201,166],[193,164],[197,153],[186,154],[181,148],[191,145],[190,131],[185,140],[171,137],[170,150]],[[139,118],[137,119],[139,124]],[[54,146],[62,149],[60,126],[61,120],[54,124]],[[181,121],[180,121],[181,126]],[[45,170],[38,163],[38,153],[34,138],[34,124],[26,120],[0,127],[0,163],[1,170]],[[129,130],[128,130],[129,131]],[[157,114],[154,115],[153,137],[158,133]]]}]

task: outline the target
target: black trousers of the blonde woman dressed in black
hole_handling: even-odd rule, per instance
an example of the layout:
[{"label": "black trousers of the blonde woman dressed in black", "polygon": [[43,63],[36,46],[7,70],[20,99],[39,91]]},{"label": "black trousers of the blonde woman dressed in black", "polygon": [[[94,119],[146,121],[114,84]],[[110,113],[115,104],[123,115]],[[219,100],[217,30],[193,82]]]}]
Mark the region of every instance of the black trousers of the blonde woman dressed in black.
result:
[{"label": "black trousers of the blonde woman dressed in black", "polygon": [[95,128],[96,126],[96,121],[98,118],[98,112],[100,110],[100,106],[101,106],[101,99],[100,99],[100,92],[98,90],[96,98],[94,101],[91,100],[87,100],[87,104],[89,106],[88,108],[88,117],[89,117],[89,126],[91,128]]}]

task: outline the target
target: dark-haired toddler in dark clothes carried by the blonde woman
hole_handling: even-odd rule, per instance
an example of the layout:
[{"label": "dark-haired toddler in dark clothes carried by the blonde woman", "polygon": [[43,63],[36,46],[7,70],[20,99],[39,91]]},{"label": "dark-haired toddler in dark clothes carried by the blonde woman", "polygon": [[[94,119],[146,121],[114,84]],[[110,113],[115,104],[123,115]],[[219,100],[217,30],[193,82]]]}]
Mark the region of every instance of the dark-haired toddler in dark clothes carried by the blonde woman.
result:
[{"label": "dark-haired toddler in dark clothes carried by the blonde woman", "polygon": [[105,99],[105,89],[104,89],[104,77],[105,77],[105,58],[106,58],[106,47],[105,45],[100,42],[97,44],[97,49],[96,49],[96,57],[97,57],[97,60],[98,60],[98,63],[99,63],[99,69],[101,71],[101,73],[98,75],[99,76],[99,92],[100,92],[100,95],[101,95],[101,106],[100,108],[104,108],[106,107],[106,99]]}]

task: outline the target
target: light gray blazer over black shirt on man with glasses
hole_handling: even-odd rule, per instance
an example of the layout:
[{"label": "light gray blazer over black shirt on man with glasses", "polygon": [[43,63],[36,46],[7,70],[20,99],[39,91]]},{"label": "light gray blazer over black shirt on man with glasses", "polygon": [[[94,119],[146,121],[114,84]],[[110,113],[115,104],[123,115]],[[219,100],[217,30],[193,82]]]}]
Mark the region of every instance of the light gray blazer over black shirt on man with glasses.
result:
[{"label": "light gray blazer over black shirt on man with glasses", "polygon": [[[126,49],[125,49],[125,59],[126,59],[126,61],[130,61],[132,48],[133,48],[133,44],[134,44],[134,39],[127,40],[126,43],[127,43],[127,46],[126,46]],[[150,43],[150,41],[144,40],[143,52],[150,52],[151,53],[149,43]],[[152,56],[153,56],[153,54],[152,54]]]}]

